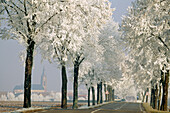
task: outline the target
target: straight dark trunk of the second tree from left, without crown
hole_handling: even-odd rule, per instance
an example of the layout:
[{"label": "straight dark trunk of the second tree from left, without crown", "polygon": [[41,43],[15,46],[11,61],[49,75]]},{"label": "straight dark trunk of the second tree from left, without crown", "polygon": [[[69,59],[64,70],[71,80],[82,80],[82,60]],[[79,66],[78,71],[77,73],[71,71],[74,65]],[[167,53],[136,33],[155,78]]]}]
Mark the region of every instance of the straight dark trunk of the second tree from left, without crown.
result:
[{"label": "straight dark trunk of the second tree from left, without crown", "polygon": [[67,75],[66,75],[66,67],[62,65],[62,100],[61,100],[61,108],[67,108]]}]

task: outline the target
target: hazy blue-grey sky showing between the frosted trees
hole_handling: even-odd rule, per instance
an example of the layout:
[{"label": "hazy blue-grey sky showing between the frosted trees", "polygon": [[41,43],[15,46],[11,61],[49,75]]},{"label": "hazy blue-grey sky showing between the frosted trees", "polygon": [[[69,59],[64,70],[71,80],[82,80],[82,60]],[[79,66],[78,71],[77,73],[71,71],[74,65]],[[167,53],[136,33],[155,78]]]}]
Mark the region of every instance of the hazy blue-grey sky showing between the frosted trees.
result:
[{"label": "hazy blue-grey sky showing between the frosted trees", "polygon": [[[112,7],[116,8],[113,12],[116,22],[121,23],[121,17],[127,13],[132,1],[134,0],[110,0]],[[24,84],[24,62],[19,57],[23,50],[25,48],[16,40],[0,39],[0,91],[13,91],[16,85]],[[43,67],[47,76],[47,91],[60,92],[61,74],[58,65],[42,62],[38,52],[34,56],[32,83],[40,83]],[[68,90],[72,90],[72,86],[72,82],[68,80]]]}]

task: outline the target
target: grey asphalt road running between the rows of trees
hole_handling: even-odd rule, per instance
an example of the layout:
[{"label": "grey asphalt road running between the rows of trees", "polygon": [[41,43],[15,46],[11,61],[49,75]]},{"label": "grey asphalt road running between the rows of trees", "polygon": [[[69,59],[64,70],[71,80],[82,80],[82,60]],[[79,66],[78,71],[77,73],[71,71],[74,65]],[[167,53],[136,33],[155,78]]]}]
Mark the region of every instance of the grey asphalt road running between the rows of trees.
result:
[{"label": "grey asphalt road running between the rows of trees", "polygon": [[50,109],[38,113],[146,113],[140,103],[113,102],[91,109],[58,110]]}]

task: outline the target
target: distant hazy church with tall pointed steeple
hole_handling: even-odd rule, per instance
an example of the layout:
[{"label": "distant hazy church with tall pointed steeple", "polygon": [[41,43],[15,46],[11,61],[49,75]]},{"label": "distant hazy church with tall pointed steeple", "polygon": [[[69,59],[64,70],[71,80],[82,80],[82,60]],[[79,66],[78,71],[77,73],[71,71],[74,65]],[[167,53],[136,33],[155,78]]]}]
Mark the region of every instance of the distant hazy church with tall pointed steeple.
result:
[{"label": "distant hazy church with tall pointed steeple", "polygon": [[[41,83],[40,84],[32,84],[31,85],[31,92],[32,93],[42,93],[47,91],[47,77],[44,73],[41,75]],[[13,89],[14,94],[21,94],[24,93],[24,85],[17,85]]]}]

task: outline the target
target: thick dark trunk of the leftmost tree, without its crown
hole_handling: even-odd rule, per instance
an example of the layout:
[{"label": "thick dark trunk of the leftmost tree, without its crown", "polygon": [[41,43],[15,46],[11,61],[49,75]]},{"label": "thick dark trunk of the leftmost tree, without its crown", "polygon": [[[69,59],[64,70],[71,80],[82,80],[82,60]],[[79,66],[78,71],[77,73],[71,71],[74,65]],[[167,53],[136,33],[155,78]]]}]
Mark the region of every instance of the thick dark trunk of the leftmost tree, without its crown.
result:
[{"label": "thick dark trunk of the leftmost tree, without its crown", "polygon": [[28,40],[27,57],[25,61],[25,81],[24,81],[24,108],[31,107],[31,74],[33,65],[35,42]]}]

